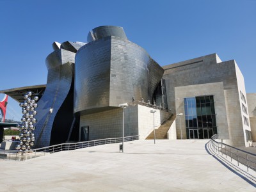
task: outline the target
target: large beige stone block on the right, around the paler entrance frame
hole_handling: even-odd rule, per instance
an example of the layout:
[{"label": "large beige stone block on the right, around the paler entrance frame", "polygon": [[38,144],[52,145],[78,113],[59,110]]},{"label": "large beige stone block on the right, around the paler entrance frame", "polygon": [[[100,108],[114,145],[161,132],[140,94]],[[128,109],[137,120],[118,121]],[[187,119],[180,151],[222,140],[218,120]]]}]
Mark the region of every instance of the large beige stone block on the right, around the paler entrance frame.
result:
[{"label": "large beige stone block on the right, around the paler entrance frame", "polygon": [[[166,65],[164,68],[163,78],[166,80],[166,91],[168,106],[173,113],[184,113],[184,104],[177,99],[183,97],[176,95],[175,88],[180,86],[195,86],[196,84],[223,83],[223,95],[225,97],[225,108],[227,116],[227,127],[229,132],[229,140],[225,142],[235,147],[248,146],[244,141],[245,132],[243,125],[243,115],[241,111],[241,101],[239,99],[239,91],[244,88],[243,75],[236,65],[236,61],[230,60],[221,62],[216,54],[210,54],[195,58],[193,60],[182,61],[172,65]],[[206,88],[207,89],[207,88]],[[188,90],[187,90],[188,91]],[[220,90],[219,90],[220,91]],[[186,92],[186,90],[184,90]],[[193,96],[209,95],[208,92],[196,93]],[[177,104],[175,104],[178,102]],[[176,109],[178,111],[176,111]],[[220,112],[224,114],[225,111]],[[217,116],[220,116],[217,114]],[[183,117],[184,118],[184,117]],[[219,117],[218,117],[219,118]],[[184,127],[185,121],[182,121]],[[224,123],[217,120],[218,126]],[[250,126],[249,126],[250,127]],[[249,129],[249,128],[248,128]],[[179,138],[179,129],[177,136]],[[220,130],[221,132],[221,130]],[[225,129],[225,138],[227,138],[227,129]]]}]

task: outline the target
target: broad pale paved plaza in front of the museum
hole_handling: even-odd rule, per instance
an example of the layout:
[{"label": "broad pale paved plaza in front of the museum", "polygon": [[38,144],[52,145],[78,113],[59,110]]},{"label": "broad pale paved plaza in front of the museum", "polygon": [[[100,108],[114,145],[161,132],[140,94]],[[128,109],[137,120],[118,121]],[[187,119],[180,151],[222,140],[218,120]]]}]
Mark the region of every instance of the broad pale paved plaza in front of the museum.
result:
[{"label": "broad pale paved plaza in front of the museum", "polygon": [[124,154],[116,143],[0,160],[0,191],[256,191],[255,172],[211,154],[205,143],[141,140],[125,143]]}]

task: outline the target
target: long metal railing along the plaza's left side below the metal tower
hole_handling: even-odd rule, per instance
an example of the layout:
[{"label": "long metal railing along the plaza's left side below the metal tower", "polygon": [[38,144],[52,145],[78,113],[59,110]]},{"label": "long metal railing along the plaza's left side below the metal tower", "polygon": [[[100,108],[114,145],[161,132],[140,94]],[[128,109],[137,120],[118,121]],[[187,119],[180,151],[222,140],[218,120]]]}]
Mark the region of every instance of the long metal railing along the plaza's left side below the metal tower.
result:
[{"label": "long metal railing along the plaza's left side below the metal tower", "polygon": [[[124,137],[124,141],[140,140],[140,136],[127,136]],[[0,159],[8,159],[15,161],[25,161],[35,157],[45,156],[46,154],[52,154],[63,150],[76,150],[79,148],[93,147],[97,145],[106,145],[111,143],[121,143],[122,138],[107,138],[101,140],[81,141],[77,143],[61,143],[58,145],[51,145],[49,147],[41,147],[29,150],[29,152],[18,152],[17,150],[1,150]],[[3,157],[1,157],[3,156]],[[5,158],[4,158],[5,157]]]}]

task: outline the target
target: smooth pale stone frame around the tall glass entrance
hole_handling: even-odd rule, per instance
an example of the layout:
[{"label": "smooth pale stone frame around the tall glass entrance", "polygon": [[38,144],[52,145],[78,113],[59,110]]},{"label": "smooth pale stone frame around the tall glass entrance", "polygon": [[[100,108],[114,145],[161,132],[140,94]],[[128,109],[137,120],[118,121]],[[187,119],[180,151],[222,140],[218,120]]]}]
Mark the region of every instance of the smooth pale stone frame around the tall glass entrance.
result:
[{"label": "smooth pale stone frame around the tall glass entrance", "polygon": [[182,116],[176,118],[177,138],[180,139],[179,118],[181,118],[182,138],[187,138],[184,112],[184,98],[195,97],[199,95],[213,95],[217,122],[217,132],[221,139],[227,140],[229,138],[229,134],[227,124],[227,112],[225,107],[225,96],[223,92],[222,82],[175,87],[176,112],[183,113]]}]

